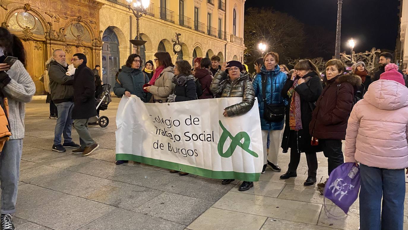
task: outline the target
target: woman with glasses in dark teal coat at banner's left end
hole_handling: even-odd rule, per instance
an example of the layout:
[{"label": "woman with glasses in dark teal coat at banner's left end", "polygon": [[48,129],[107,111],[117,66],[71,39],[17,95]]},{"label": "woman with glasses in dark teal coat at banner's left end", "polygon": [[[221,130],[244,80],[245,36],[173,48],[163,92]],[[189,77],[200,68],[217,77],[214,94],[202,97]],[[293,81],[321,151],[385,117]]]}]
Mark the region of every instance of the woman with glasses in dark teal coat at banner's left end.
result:
[{"label": "woman with glasses in dark teal coat at banner's left end", "polygon": [[[149,102],[151,95],[143,91],[143,85],[149,83],[149,78],[140,70],[142,60],[137,54],[129,55],[126,65],[122,66],[122,71],[118,74],[113,92],[116,96],[130,97],[132,94],[138,96],[143,102]],[[117,165],[128,161],[116,161]]]}]

